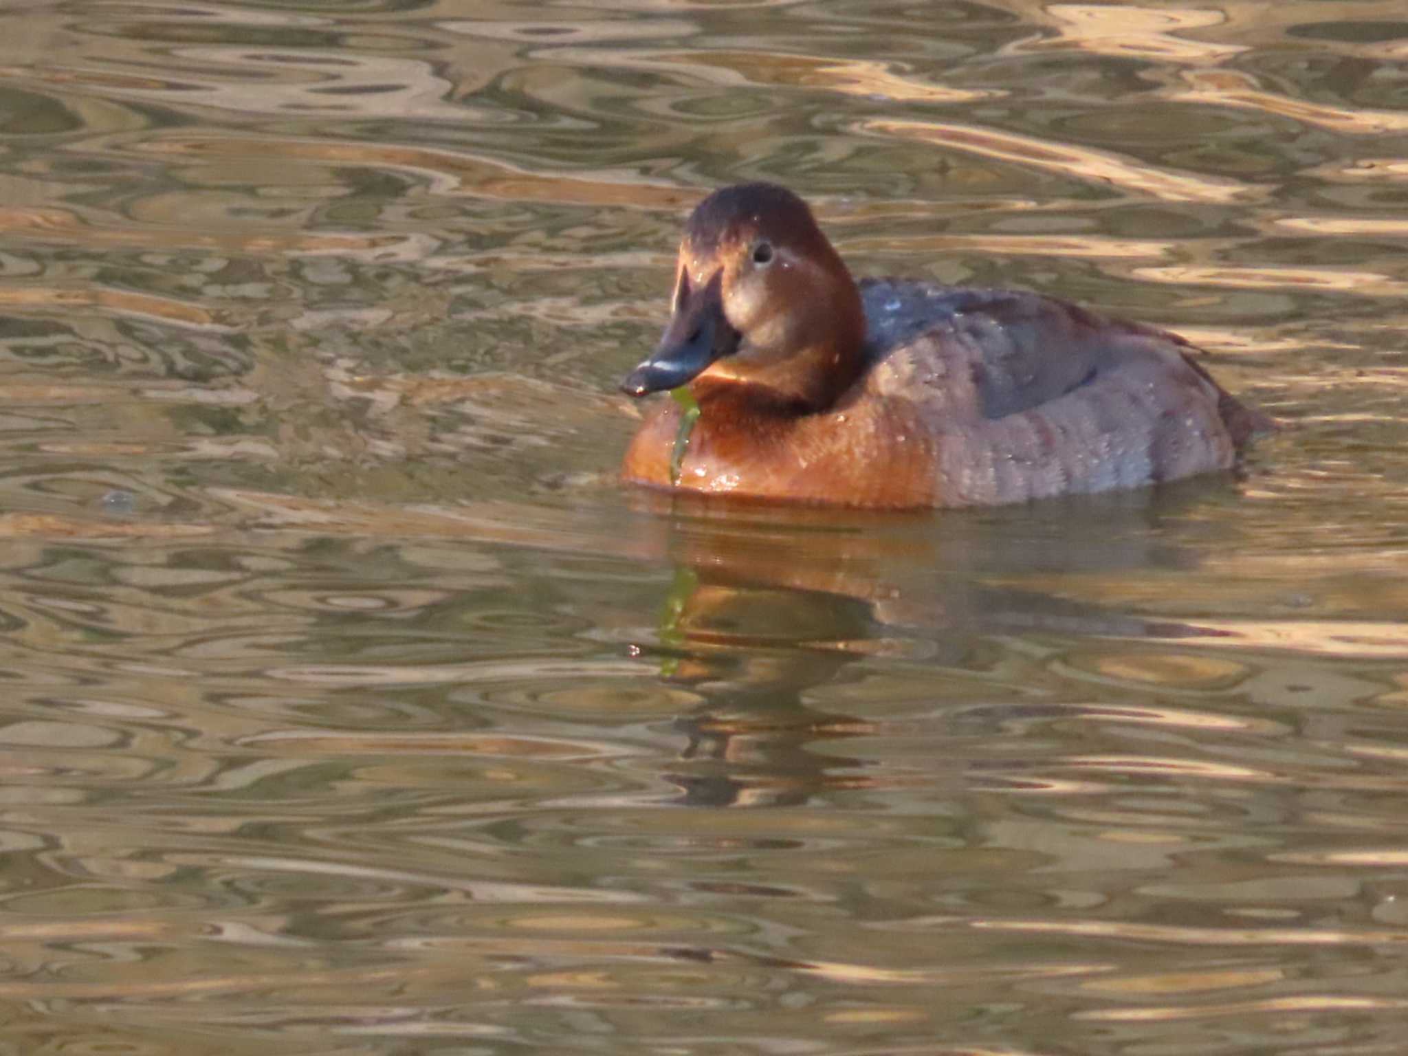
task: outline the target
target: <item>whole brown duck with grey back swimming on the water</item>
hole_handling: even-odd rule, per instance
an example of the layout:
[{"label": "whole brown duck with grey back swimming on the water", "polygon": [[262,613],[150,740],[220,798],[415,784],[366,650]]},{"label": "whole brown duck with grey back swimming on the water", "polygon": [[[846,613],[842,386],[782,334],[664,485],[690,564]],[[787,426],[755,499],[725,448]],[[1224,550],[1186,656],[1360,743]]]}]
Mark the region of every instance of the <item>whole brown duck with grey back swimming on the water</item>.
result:
[{"label": "whole brown duck with grey back swimming on the water", "polygon": [[1174,334],[1021,290],[857,283],[773,183],[694,208],[670,306],[621,383],[677,397],[622,459],[622,480],[649,489],[998,505],[1225,472],[1271,427]]}]

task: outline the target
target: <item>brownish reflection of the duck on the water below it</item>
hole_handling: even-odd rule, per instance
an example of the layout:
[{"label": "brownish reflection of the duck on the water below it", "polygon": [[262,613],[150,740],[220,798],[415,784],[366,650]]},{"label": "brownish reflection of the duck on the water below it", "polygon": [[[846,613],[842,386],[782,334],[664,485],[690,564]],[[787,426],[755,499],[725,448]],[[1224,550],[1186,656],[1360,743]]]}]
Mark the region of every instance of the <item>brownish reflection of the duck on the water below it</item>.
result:
[{"label": "brownish reflection of the duck on the water below it", "polygon": [[1091,636],[1218,635],[1036,583],[1187,567],[1160,525],[1219,491],[1232,489],[1191,482],[943,518],[642,497],[650,549],[676,574],[656,641],[638,648],[704,701],[677,719],[687,745],[666,776],[684,803],[712,807],[867,787],[873,763],[835,742],[879,724],[817,701],[865,696],[877,656],[922,669],[922,680],[995,662],[994,641],[1062,649]]}]

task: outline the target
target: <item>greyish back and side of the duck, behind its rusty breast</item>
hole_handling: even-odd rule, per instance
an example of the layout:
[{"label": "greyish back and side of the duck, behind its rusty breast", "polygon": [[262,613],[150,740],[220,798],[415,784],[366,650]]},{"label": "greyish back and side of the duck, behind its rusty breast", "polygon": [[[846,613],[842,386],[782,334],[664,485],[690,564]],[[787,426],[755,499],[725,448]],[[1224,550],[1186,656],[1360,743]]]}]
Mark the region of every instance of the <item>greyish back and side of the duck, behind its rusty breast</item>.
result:
[{"label": "greyish back and side of the duck, behind its rusty breast", "polygon": [[[931,452],[928,504],[1017,503],[1228,469],[1269,427],[1173,334],[1012,290],[890,279],[860,290],[869,369],[842,403],[904,422],[901,434],[886,431],[890,446]],[[901,414],[898,404],[911,407]]]}]

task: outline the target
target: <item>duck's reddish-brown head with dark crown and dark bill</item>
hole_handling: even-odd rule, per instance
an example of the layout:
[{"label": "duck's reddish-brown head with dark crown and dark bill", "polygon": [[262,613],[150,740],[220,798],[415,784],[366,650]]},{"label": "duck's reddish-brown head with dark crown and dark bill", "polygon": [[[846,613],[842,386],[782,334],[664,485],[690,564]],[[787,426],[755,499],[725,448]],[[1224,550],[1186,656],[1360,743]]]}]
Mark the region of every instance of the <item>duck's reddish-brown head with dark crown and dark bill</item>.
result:
[{"label": "duck's reddish-brown head with dark crown and dark bill", "polygon": [[700,379],[824,410],[860,373],[865,325],[856,283],[801,199],[772,183],[724,187],[690,215],[673,315],[621,389]]}]

